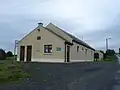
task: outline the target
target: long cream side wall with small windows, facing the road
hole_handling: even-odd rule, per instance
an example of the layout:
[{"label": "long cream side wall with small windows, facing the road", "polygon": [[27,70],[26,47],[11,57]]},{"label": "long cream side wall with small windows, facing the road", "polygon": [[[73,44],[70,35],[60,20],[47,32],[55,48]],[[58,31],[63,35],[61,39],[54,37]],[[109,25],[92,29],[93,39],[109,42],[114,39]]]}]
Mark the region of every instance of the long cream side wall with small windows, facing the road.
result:
[{"label": "long cream side wall with small windows, facing the road", "polygon": [[[94,60],[94,51],[85,46],[82,46],[76,42],[73,42],[70,51],[70,61],[71,62],[83,62],[83,61],[93,61]],[[78,50],[77,50],[77,47]]]}]

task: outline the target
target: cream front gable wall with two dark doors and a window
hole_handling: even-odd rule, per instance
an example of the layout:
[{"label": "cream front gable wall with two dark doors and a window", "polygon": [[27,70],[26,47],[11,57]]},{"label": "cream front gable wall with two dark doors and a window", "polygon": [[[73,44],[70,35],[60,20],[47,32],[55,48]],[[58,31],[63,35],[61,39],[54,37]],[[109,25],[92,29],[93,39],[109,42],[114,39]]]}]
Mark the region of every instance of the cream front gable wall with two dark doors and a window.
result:
[{"label": "cream front gable wall with two dark doors and a window", "polygon": [[[38,31],[40,29],[40,31]],[[41,40],[37,40],[37,36]],[[37,27],[32,33],[20,41],[18,46],[18,60],[20,59],[20,46],[25,46],[25,60],[27,45],[32,45],[32,61],[37,62],[64,62],[64,40],[43,27]],[[44,45],[52,45],[52,53],[44,53]],[[61,51],[57,51],[61,48]]]}]

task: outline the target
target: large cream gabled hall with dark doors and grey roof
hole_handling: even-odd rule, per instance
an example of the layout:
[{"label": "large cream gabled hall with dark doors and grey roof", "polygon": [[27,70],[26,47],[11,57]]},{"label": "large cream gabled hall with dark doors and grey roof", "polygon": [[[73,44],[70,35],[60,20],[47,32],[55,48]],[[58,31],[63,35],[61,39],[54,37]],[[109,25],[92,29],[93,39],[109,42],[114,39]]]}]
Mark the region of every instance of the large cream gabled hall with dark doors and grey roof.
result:
[{"label": "large cream gabled hall with dark doors and grey roof", "polygon": [[17,61],[82,62],[94,60],[94,49],[75,36],[50,23],[42,23],[21,39]]}]

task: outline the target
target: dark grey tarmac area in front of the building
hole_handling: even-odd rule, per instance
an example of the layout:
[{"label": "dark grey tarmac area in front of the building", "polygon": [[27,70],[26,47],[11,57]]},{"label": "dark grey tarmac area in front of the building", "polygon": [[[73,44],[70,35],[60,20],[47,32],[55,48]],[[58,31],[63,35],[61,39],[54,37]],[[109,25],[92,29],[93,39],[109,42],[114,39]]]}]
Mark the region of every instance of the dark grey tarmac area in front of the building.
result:
[{"label": "dark grey tarmac area in front of the building", "polygon": [[0,90],[109,90],[117,63],[25,65],[32,78],[21,83],[0,86]]}]

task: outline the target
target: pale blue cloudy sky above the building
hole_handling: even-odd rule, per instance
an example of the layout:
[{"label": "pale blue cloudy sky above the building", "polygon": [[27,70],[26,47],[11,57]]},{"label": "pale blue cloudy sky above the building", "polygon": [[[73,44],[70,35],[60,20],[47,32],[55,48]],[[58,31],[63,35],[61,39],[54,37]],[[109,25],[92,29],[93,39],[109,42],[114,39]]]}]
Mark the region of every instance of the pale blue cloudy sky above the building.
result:
[{"label": "pale blue cloudy sky above the building", "polygon": [[98,50],[105,50],[105,38],[110,49],[120,47],[119,0],[1,0],[0,48],[13,50],[39,22],[52,22]]}]

